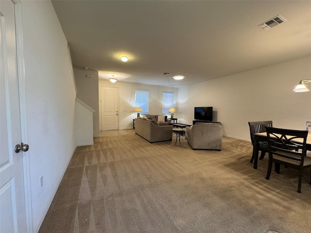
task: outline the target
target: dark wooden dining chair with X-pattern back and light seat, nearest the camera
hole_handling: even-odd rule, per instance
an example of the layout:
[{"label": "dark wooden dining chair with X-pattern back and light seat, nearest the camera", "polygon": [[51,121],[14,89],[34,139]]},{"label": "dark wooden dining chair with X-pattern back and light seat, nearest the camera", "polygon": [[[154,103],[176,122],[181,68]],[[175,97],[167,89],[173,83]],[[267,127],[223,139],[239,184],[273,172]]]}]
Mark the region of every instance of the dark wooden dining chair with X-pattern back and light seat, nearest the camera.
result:
[{"label": "dark wooden dining chair with X-pattern back and light seat, nearest the camera", "polygon": [[273,163],[276,164],[276,170],[278,170],[278,173],[280,165],[297,169],[299,170],[297,192],[300,193],[302,171],[311,167],[311,158],[306,156],[308,131],[266,127],[266,132],[269,151],[269,162],[266,179],[269,180],[270,178]]}]

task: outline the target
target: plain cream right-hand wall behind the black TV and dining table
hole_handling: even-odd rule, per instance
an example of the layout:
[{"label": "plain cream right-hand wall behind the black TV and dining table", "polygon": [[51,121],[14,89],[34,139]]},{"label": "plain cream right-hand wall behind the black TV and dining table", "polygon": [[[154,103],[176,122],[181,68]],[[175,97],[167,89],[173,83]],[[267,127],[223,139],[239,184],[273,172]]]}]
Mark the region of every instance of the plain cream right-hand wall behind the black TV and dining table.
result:
[{"label": "plain cream right-hand wall behind the black TV and dining table", "polygon": [[273,120],[274,127],[304,130],[311,121],[311,91],[292,90],[310,74],[311,56],[182,87],[178,114],[192,124],[194,106],[213,106],[213,120],[223,123],[224,135],[245,140],[250,140],[248,121]]}]

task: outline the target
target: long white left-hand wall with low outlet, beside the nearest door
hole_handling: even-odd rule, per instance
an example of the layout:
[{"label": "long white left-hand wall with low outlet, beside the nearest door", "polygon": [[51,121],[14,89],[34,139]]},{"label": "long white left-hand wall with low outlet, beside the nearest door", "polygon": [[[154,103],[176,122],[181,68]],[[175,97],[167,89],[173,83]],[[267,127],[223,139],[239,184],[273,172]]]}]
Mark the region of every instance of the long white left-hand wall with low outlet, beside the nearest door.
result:
[{"label": "long white left-hand wall with low outlet, beside the nearest door", "polygon": [[22,1],[22,20],[31,197],[37,232],[76,148],[75,89],[67,40],[51,1]]}]

